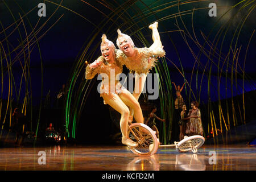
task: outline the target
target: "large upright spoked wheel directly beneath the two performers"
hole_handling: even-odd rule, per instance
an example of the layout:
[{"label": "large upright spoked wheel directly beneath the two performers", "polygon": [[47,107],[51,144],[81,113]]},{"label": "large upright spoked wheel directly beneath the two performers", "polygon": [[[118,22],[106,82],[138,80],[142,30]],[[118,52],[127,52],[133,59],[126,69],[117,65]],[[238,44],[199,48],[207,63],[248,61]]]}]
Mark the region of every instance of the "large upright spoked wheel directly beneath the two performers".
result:
[{"label": "large upright spoked wheel directly beneath the two performers", "polygon": [[129,147],[134,154],[146,156],[154,155],[158,151],[158,139],[155,132],[147,125],[142,123],[128,125],[127,136],[138,143],[137,147]]}]

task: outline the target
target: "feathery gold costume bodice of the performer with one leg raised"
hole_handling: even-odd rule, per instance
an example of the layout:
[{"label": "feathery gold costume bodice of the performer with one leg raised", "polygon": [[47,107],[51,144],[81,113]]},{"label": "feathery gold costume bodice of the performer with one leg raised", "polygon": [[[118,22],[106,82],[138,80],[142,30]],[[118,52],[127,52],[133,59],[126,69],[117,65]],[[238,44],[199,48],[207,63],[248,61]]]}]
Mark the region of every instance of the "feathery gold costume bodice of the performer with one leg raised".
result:
[{"label": "feathery gold costume bodice of the performer with one leg raised", "polygon": [[[120,49],[117,49],[115,53],[119,63],[125,64],[128,69],[138,74],[150,72],[156,65],[157,56],[162,57],[165,55],[163,49],[155,50],[157,53],[153,53],[152,49],[147,47],[134,49],[136,51],[135,58],[127,57]],[[149,60],[150,57],[151,59]]]}]

